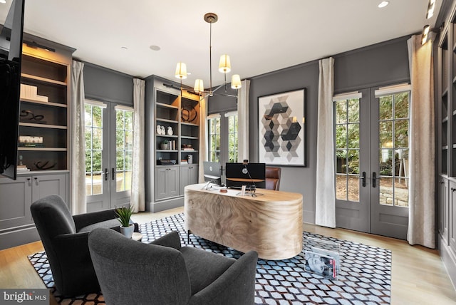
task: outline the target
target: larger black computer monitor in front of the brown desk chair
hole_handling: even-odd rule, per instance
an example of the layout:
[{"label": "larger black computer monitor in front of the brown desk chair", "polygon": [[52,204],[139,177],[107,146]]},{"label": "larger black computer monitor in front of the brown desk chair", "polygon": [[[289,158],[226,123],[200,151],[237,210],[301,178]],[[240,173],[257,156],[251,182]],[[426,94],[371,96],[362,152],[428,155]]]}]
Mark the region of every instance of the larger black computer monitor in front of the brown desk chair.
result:
[{"label": "larger black computer monitor in front of the brown desk chair", "polygon": [[242,188],[246,185],[247,190],[266,188],[265,163],[227,163],[225,170],[227,187]]}]

